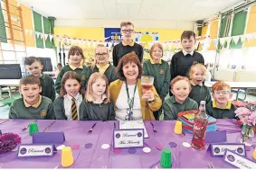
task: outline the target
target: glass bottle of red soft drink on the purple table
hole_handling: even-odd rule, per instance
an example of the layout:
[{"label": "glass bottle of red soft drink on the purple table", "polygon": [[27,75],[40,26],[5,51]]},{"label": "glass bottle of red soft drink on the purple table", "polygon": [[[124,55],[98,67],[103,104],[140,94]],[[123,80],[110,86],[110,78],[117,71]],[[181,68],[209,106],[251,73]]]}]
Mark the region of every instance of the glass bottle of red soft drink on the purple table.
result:
[{"label": "glass bottle of red soft drink on the purple table", "polygon": [[194,119],[194,135],[192,139],[192,147],[204,149],[205,134],[208,124],[208,115],[205,111],[205,101],[200,102],[199,112]]}]

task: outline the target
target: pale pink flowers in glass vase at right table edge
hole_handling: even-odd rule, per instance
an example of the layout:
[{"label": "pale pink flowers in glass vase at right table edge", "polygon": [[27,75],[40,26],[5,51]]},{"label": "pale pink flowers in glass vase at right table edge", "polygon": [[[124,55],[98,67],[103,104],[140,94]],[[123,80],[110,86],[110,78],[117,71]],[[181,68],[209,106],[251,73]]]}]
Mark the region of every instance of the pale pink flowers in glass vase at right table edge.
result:
[{"label": "pale pink flowers in glass vase at right table edge", "polygon": [[242,143],[254,137],[254,126],[256,124],[256,103],[247,102],[243,107],[235,111],[235,116],[242,123]]}]

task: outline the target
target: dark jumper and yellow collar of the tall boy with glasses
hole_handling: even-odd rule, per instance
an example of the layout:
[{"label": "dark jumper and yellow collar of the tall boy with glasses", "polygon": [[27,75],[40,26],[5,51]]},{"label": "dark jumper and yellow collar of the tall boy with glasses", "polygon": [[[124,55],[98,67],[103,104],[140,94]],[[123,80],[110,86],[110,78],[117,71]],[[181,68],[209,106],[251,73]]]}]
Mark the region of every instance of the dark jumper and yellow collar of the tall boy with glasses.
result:
[{"label": "dark jumper and yellow collar of the tall boy with glasses", "polygon": [[113,54],[113,65],[117,67],[119,65],[119,60],[126,54],[134,51],[137,54],[137,57],[142,62],[143,59],[143,48],[141,45],[132,41],[130,44],[125,43],[124,41],[114,46],[112,51]]}]

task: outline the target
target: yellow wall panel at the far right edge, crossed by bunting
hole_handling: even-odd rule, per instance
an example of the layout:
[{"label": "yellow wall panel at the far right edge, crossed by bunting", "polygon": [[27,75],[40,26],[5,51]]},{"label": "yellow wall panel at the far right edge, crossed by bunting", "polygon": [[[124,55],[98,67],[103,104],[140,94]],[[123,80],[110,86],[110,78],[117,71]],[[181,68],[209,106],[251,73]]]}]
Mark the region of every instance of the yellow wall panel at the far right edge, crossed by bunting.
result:
[{"label": "yellow wall panel at the far right edge, crossed by bunting", "polygon": [[[248,19],[248,23],[247,23],[247,29],[246,29],[246,33],[253,33],[256,32],[256,5],[251,6],[251,10],[250,10],[250,14],[249,14],[249,19]],[[244,42],[243,47],[255,47],[256,46],[256,40],[251,40],[251,42],[249,42],[248,40],[246,40]]]}]

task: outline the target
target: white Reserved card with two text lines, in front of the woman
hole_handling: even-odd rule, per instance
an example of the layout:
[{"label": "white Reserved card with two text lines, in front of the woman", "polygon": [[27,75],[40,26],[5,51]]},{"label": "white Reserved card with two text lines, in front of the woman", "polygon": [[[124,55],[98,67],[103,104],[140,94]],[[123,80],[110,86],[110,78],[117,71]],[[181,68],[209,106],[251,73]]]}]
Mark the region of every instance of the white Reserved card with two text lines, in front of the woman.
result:
[{"label": "white Reserved card with two text lines, in front of the woman", "polygon": [[144,130],[114,130],[114,148],[144,147]]}]

